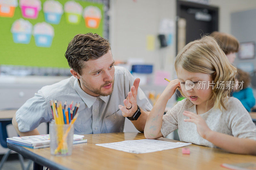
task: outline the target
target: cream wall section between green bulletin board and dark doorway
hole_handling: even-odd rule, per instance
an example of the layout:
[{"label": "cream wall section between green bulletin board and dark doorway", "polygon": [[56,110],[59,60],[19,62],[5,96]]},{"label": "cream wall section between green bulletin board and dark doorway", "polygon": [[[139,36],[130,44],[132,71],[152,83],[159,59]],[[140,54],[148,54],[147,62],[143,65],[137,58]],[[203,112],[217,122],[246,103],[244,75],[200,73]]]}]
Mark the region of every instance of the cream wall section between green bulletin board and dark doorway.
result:
[{"label": "cream wall section between green bulletin board and dark doorway", "polygon": [[[139,57],[145,59],[147,63],[155,63],[154,67],[159,68],[159,56],[174,57],[174,44],[160,50],[156,37],[161,19],[175,18],[174,0],[110,0],[110,10],[109,34],[115,59]],[[147,35],[154,35],[157,40],[154,51],[148,51],[146,48]],[[173,59],[168,63],[172,61]]]}]

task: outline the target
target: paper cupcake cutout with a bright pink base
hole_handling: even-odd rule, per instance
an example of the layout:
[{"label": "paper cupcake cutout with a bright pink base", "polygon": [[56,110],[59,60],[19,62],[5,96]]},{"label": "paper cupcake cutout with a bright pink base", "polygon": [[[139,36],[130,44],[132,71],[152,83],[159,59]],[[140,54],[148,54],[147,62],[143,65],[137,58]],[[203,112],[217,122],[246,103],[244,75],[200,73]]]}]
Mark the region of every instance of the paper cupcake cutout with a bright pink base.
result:
[{"label": "paper cupcake cutout with a bright pink base", "polygon": [[22,17],[36,19],[41,10],[40,0],[20,0],[20,9]]}]

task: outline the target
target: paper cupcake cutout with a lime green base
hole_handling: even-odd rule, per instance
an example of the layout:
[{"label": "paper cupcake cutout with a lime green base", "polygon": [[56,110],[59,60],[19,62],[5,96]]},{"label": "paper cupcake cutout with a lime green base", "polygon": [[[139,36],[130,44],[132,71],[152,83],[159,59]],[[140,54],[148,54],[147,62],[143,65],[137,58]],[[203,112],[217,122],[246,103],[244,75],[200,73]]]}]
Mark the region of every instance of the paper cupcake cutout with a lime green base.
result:
[{"label": "paper cupcake cutout with a lime green base", "polygon": [[64,5],[66,20],[69,24],[79,24],[82,18],[83,7],[75,1],[68,1]]}]

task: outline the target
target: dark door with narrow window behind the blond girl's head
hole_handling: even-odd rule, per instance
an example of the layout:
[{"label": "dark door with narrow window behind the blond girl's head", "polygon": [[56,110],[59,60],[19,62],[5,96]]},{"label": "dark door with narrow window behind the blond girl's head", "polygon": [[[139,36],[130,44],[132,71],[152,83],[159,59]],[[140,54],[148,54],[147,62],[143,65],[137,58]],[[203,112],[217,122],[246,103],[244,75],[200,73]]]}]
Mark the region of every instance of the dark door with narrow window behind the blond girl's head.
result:
[{"label": "dark door with narrow window behind the blond girl's head", "polygon": [[204,34],[218,31],[218,18],[218,7],[177,0],[176,52]]}]

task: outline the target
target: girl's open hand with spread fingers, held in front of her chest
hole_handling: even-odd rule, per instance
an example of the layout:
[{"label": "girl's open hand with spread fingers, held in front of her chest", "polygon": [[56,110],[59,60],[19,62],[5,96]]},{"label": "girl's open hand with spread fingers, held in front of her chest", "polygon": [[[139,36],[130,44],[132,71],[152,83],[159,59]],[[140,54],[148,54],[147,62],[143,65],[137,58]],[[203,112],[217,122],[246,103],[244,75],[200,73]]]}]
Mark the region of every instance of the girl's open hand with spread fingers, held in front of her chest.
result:
[{"label": "girl's open hand with spread fingers, held in front of her chest", "polygon": [[196,115],[193,112],[184,111],[183,115],[188,116],[189,119],[184,119],[184,122],[193,122],[196,124],[198,134],[206,139],[206,136],[212,131],[204,119],[200,115]]}]

